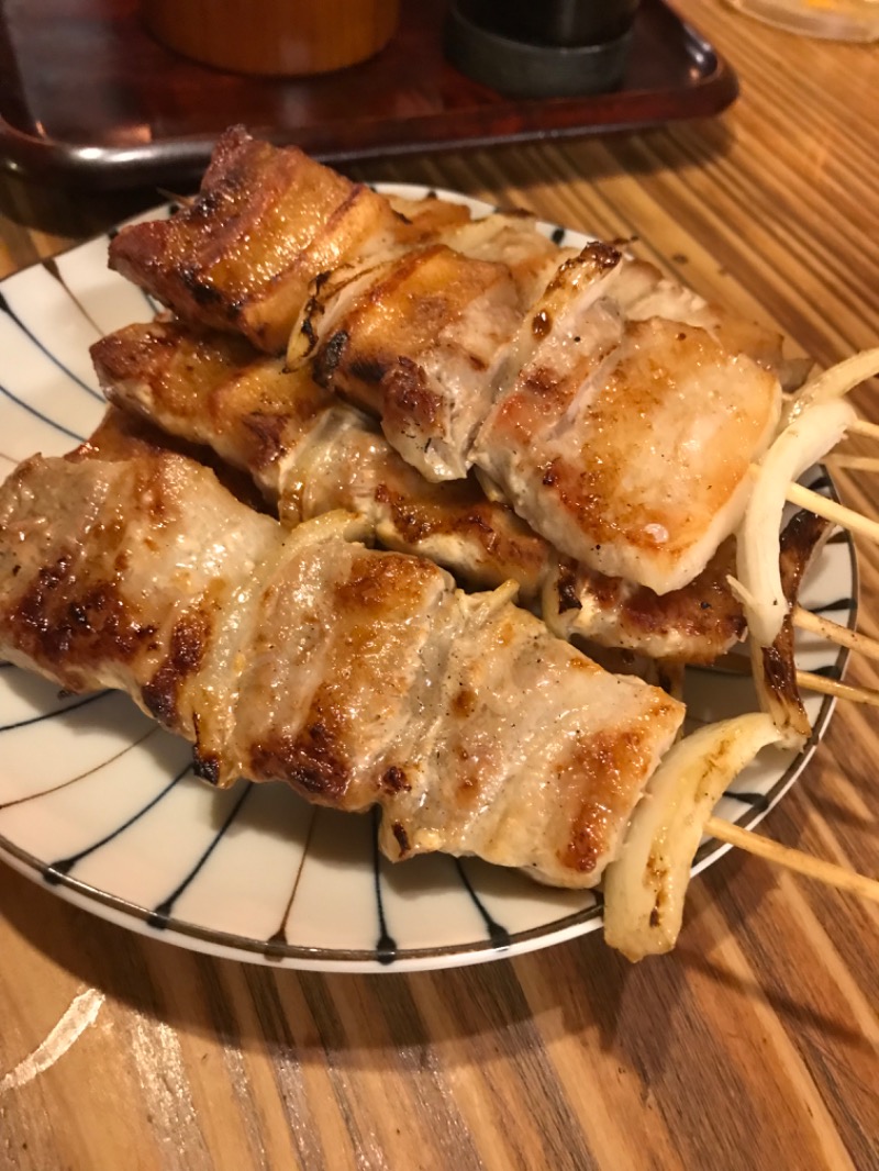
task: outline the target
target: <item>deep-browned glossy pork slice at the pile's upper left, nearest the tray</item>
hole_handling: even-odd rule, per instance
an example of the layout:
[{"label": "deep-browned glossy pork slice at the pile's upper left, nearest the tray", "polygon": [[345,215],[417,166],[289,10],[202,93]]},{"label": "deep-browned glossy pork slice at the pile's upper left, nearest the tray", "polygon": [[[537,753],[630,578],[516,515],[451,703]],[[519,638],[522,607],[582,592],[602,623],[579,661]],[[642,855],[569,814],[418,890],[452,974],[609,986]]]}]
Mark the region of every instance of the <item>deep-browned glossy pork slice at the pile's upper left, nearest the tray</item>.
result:
[{"label": "deep-browned glossy pork slice at the pile's upper left, nearest the tray", "polygon": [[397,221],[362,184],[238,126],[218,142],[197,198],[122,228],[110,267],[188,321],[282,352],[311,281],[380,247]]}]

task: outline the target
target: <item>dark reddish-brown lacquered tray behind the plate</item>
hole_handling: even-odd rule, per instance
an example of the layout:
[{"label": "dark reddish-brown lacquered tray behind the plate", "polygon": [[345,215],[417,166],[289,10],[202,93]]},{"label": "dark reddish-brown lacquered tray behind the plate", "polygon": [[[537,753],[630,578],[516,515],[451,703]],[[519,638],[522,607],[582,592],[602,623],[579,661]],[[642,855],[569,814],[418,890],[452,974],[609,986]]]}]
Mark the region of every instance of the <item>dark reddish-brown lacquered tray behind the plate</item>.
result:
[{"label": "dark reddish-brown lacquered tray behind the plate", "polygon": [[643,0],[622,87],[593,97],[505,98],[442,54],[445,0],[403,0],[383,53],[309,80],[254,80],[155,42],[137,0],[0,0],[0,163],[69,185],[173,185],[243,122],[341,160],[643,128],[716,114],[730,67],[662,0]]}]

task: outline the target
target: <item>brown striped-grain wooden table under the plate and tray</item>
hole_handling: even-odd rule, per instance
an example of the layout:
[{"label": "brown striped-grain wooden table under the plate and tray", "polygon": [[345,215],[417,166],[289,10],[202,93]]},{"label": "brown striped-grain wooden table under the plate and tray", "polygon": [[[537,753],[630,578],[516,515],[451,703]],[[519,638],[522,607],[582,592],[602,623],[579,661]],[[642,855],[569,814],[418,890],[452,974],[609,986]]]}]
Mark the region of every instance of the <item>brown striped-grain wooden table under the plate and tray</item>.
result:
[{"label": "brown striped-grain wooden table under the plate and tray", "polygon": [[[875,345],[879,50],[775,33],[720,0],[680,7],[740,71],[725,116],[362,173],[638,235],[820,363]],[[0,275],[150,201],[6,180]],[[873,395],[857,402],[879,422]],[[839,479],[870,508],[868,477]],[[859,554],[861,625],[875,635],[879,550]],[[851,677],[879,682],[864,660]],[[879,872],[875,727],[875,710],[840,706],[765,833]],[[632,967],[592,934],[381,977],[175,950],[4,868],[0,1166],[867,1171],[878,992],[879,909],[741,855],[694,882],[669,957]]]}]

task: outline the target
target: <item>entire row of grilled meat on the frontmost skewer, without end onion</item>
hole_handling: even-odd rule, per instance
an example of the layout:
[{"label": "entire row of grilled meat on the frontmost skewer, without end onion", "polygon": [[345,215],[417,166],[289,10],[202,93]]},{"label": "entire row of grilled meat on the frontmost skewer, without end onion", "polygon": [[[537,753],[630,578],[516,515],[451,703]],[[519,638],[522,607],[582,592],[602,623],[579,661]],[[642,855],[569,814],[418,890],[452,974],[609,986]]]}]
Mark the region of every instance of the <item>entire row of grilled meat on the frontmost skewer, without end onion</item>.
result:
[{"label": "entire row of grilled meat on the frontmost skewer, without end onion", "polygon": [[[164,498],[169,505],[164,525],[150,518],[142,505],[143,485],[161,484],[166,485]],[[36,513],[32,508],[32,492],[47,493],[46,507]],[[64,501],[63,513],[53,508],[53,499]],[[605,677],[597,665],[552,638],[533,617],[506,603],[486,626],[481,603],[452,595],[450,581],[436,567],[398,554],[349,546],[341,535],[333,537],[338,541],[335,552],[326,549],[331,537],[320,522],[315,525],[315,546],[309,553],[305,530],[304,547],[300,548],[301,542],[285,541],[279,527],[248,514],[207,472],[180,457],[139,454],[123,467],[86,460],[36,461],[19,472],[0,505],[6,526],[0,552],[7,563],[18,563],[18,533],[39,533],[54,516],[59,518],[56,533],[49,533],[53,540],[48,548],[53,552],[45,561],[23,563],[28,577],[22,582],[25,573],[19,575],[18,589],[7,578],[4,626],[9,623],[21,593],[40,586],[40,569],[54,566],[57,560],[62,563],[54,576],[81,575],[77,578],[82,582],[81,595],[89,588],[110,587],[125,600],[137,600],[129,601],[129,607],[143,624],[158,624],[150,637],[154,649],[148,649],[127,670],[115,667],[103,653],[93,655],[83,669],[75,662],[71,664],[69,656],[56,655],[47,666],[62,685],[69,686],[73,680],[74,687],[81,690],[95,683],[102,685],[109,677],[113,685],[138,699],[142,689],[146,685],[149,694],[151,686],[154,694],[149,698],[159,718],[173,718],[183,725],[175,731],[196,741],[195,767],[212,783],[224,785],[240,774],[257,781],[289,783],[306,799],[340,809],[354,812],[376,801],[382,803],[389,814],[386,840],[390,843],[390,856],[397,856],[401,845],[393,833],[394,822],[398,822],[406,831],[410,855],[434,849],[479,852],[511,865],[536,865],[550,878],[560,877],[563,885],[581,881],[588,885],[598,877],[607,851],[614,848],[618,823],[628,816],[653,763],[653,754],[661,751],[660,746],[680,723],[680,710],[672,701],[663,708],[649,689],[618,680],[621,708],[619,719],[608,728],[601,712],[591,712],[590,705],[594,700],[599,708],[606,703],[613,706],[613,699],[606,698],[606,689],[614,686],[613,677]],[[111,532],[121,516],[128,516],[129,523],[116,543],[108,545],[101,534]],[[178,562],[178,543],[190,520],[207,522],[209,516],[206,537],[233,527],[243,547],[240,552],[233,550],[227,567],[225,562],[216,568],[207,563],[199,575],[195,568],[197,547],[190,542],[186,554],[188,563],[193,567],[190,596],[197,602],[188,604],[188,610],[195,611],[185,615],[189,623],[180,623],[184,615],[176,609],[180,604],[179,589],[169,581],[168,568]],[[191,528],[189,525],[190,532]],[[120,581],[113,559],[122,547],[130,552],[131,578],[125,575]],[[326,563],[327,569],[321,578],[319,621],[325,630],[336,630],[336,635],[329,642],[318,638],[313,643],[309,628],[318,615],[313,615],[308,598],[300,597],[297,590],[299,584],[311,581],[301,575],[319,549],[320,564]],[[230,682],[216,679],[207,665],[209,655],[199,645],[199,622],[204,621],[207,628],[205,616],[210,619],[211,629],[205,629],[204,636],[217,649],[218,662],[225,662],[230,637],[240,634],[236,625],[236,607],[240,602],[236,582],[248,581],[254,562],[267,564],[272,556],[281,560],[265,588],[254,595],[257,610],[238,616],[250,615],[252,625],[247,626],[251,634],[241,646],[241,662],[231,664],[238,683],[230,680]],[[43,581],[43,590],[49,584]],[[266,597],[268,590],[288,591],[277,611]],[[217,609],[212,603],[214,591]],[[183,596],[186,597],[185,593]],[[67,605],[81,601],[74,591],[56,604],[63,605],[67,616]],[[452,629],[447,631],[448,622]],[[305,639],[301,669],[286,670],[289,660],[280,638],[286,641],[287,631],[294,632],[291,646],[299,645],[300,635]],[[26,653],[22,639],[16,637],[18,628],[0,632],[4,637],[11,634],[9,644],[22,657],[41,665],[43,656]],[[456,642],[459,662],[455,666],[445,653],[449,638]],[[394,650],[388,651],[388,645]],[[381,662],[373,657],[379,651],[383,651]],[[279,656],[277,664],[268,652]],[[117,655],[118,648],[113,653]],[[504,653],[510,656],[509,669],[489,671],[485,677],[482,664],[496,662],[496,656]],[[248,671],[248,662],[259,663],[259,669]],[[527,711],[536,728],[545,728],[551,737],[552,724],[570,718],[571,733],[581,734],[590,744],[594,728],[604,728],[601,734],[615,741],[634,720],[645,745],[642,752],[634,758],[624,754],[620,771],[609,775],[607,787],[598,788],[592,774],[584,773],[578,761],[572,760],[567,734],[564,742],[553,746],[546,760],[536,755],[525,765],[519,742],[522,746],[530,742],[527,725],[518,719],[510,724],[503,715],[504,696],[513,693],[516,701],[522,698],[522,685],[515,683],[519,667],[533,680],[529,687],[533,686],[533,697],[529,698],[523,715]],[[428,685],[425,670],[435,687],[431,694],[438,703],[437,726],[444,728],[437,733],[437,742],[445,744],[448,751],[443,760],[431,756],[418,766],[416,790],[415,774],[407,761],[413,752],[420,751],[417,731],[411,732],[410,727],[411,735],[407,732],[402,740],[396,735],[408,710],[421,703],[422,689]],[[178,676],[185,672],[191,673],[180,683]],[[594,674],[594,682],[586,683],[584,673]],[[544,687],[544,679],[558,680],[561,686]],[[489,687],[488,693],[483,693],[483,686]],[[214,687],[223,689],[224,694],[214,694]],[[458,710],[451,706],[456,691],[464,687],[476,694],[478,711],[485,713],[484,728],[475,737],[469,734],[471,718],[459,714],[469,710],[472,697],[463,692]],[[613,755],[612,749],[608,748],[607,755]],[[507,776],[507,769],[513,801],[516,786],[522,786],[525,802],[534,800],[533,807],[526,803],[516,815],[533,816],[538,836],[529,843],[511,834],[503,848],[493,837],[483,844],[476,824],[482,817],[482,801],[488,786],[493,787],[497,779]],[[531,792],[534,771],[539,774],[539,793]],[[435,800],[438,820],[435,807],[424,809],[423,800]],[[594,836],[604,837],[606,850],[601,854],[600,843],[593,841],[599,862],[593,861],[592,870],[578,874],[571,865],[560,864],[557,855],[568,843],[568,830],[578,813],[581,822],[588,819],[588,810],[584,812],[588,804],[593,807]],[[490,817],[483,822],[483,833],[493,834],[490,822]],[[476,828],[471,830],[472,826]],[[431,833],[422,835],[425,827]]]}]

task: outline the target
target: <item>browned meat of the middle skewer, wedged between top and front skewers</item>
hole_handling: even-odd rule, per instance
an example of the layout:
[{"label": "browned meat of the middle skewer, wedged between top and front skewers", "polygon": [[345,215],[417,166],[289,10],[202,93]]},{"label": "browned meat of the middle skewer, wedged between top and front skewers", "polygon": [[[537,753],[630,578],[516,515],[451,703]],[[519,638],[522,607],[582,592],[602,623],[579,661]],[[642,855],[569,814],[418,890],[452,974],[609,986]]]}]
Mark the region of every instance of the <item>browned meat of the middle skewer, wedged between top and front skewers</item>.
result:
[{"label": "browned meat of the middle skewer, wedged between top and front skewers", "polygon": [[539,594],[546,542],[509,506],[472,479],[423,479],[307,371],[178,323],[129,326],[91,354],[111,402],[246,471],[286,523],[345,508],[387,548],[429,556],[469,586],[513,578],[524,597]]}]

